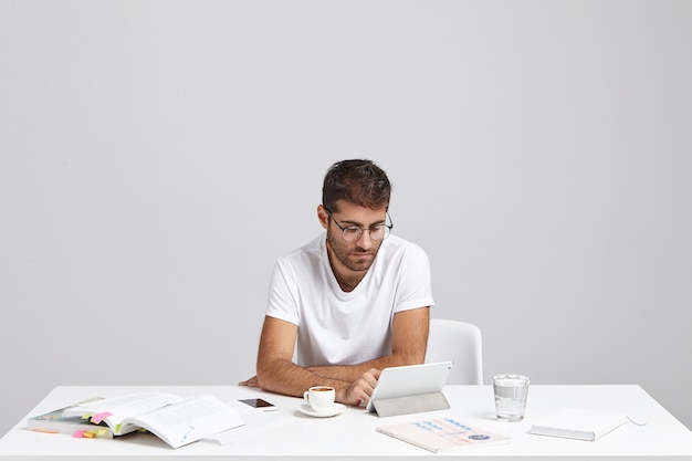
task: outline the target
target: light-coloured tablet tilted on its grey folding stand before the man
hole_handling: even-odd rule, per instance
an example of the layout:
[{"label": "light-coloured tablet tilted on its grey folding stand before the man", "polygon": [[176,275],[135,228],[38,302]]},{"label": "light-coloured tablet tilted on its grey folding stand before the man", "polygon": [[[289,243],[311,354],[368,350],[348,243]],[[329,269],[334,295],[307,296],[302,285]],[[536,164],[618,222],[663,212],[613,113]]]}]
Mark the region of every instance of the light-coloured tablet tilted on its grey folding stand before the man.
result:
[{"label": "light-coloured tablet tilted on its grey folding stand before the man", "polygon": [[366,410],[375,412],[374,400],[441,392],[454,364],[406,365],[382,369]]}]

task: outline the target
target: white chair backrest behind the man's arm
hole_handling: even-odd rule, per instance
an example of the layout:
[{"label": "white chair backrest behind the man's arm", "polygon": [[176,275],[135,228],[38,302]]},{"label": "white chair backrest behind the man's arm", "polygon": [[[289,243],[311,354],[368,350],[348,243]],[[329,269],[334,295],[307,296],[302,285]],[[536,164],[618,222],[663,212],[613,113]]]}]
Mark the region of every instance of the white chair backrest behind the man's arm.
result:
[{"label": "white chair backrest behind the man's arm", "polygon": [[452,360],[450,385],[483,384],[481,329],[470,323],[431,318],[426,363]]}]

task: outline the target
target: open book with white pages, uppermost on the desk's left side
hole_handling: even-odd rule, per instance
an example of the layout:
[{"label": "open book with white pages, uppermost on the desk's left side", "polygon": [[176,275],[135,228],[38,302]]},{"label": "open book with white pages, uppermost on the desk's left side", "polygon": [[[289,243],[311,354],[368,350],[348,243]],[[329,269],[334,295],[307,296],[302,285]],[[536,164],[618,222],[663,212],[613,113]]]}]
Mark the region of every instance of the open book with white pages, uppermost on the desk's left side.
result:
[{"label": "open book with white pages, uppermost on the desk's left side", "polygon": [[63,417],[106,423],[113,436],[140,429],[172,448],[182,447],[244,423],[241,415],[210,395],[182,397],[162,392],[133,392],[75,405]]}]

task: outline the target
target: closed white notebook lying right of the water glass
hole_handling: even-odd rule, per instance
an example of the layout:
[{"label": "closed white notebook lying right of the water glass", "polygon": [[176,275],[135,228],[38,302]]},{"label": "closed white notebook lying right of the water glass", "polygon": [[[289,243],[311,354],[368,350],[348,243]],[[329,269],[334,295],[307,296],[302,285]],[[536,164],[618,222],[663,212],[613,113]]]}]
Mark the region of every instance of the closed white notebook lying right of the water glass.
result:
[{"label": "closed white notebook lying right of the water glass", "polygon": [[617,412],[565,408],[534,422],[530,433],[597,440],[627,422],[627,416]]}]

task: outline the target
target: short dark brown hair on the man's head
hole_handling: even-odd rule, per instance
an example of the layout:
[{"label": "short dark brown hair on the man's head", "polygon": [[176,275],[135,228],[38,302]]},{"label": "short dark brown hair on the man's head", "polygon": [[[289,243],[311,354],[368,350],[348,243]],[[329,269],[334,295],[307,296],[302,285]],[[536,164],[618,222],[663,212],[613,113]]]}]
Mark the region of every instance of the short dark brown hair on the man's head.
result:
[{"label": "short dark brown hair on the man's head", "polygon": [[342,160],[332,165],[324,177],[322,205],[337,212],[338,200],[369,209],[389,208],[391,184],[387,174],[373,160]]}]

